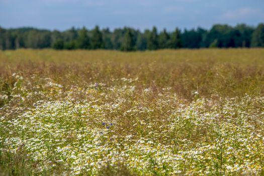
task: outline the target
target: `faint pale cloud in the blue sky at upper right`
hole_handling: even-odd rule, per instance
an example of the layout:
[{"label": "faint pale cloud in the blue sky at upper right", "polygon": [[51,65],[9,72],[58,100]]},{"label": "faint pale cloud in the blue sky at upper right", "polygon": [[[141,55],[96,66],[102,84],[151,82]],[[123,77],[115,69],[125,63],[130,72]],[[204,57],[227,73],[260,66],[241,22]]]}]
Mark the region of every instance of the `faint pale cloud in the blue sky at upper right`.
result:
[{"label": "faint pale cloud in the blue sky at upper right", "polygon": [[259,9],[253,8],[241,8],[234,11],[228,11],[224,14],[224,18],[228,20],[238,20],[245,17],[252,17],[255,15],[260,15],[261,11]]}]

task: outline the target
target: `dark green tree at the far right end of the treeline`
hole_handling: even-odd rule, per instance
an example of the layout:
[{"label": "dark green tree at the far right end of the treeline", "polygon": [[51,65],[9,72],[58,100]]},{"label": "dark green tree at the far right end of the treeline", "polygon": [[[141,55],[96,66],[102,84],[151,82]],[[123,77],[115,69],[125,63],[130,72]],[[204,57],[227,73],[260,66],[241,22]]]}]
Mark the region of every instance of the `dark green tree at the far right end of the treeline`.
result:
[{"label": "dark green tree at the far right end of the treeline", "polygon": [[252,34],[251,40],[252,47],[264,47],[264,24],[261,23],[257,26]]}]

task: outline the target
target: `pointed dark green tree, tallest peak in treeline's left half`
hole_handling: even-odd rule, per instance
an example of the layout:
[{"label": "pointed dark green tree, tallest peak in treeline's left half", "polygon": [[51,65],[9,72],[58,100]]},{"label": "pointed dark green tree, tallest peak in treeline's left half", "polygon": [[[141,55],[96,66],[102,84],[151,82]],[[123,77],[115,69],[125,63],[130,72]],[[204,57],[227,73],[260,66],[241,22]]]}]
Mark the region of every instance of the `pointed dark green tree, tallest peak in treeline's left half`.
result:
[{"label": "pointed dark green tree, tallest peak in treeline's left half", "polygon": [[104,41],[103,41],[103,35],[99,29],[99,26],[96,26],[95,29],[92,30],[91,46],[92,46],[92,49],[105,48]]}]

